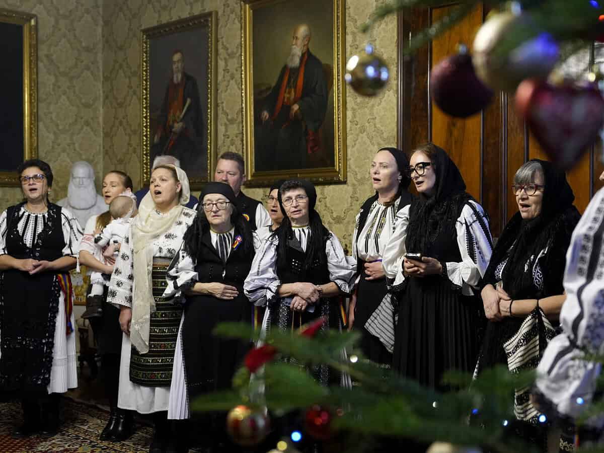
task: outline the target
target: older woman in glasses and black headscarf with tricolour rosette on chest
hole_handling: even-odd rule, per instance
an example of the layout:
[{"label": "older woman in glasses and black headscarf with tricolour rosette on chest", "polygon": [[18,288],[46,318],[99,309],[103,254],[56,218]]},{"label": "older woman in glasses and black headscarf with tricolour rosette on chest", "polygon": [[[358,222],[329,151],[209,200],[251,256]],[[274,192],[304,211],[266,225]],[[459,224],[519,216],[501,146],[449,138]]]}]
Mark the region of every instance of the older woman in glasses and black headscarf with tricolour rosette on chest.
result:
[{"label": "older woman in glasses and black headscarf with tricolour rosette on chest", "polygon": [[[257,235],[237,210],[228,184],[205,185],[198,210],[170,264],[164,292],[164,297],[184,307],[176,345],[184,362],[177,359],[174,365],[170,419],[190,418],[189,402],[196,396],[230,388],[248,349],[245,342],[214,336],[213,330],[225,321],[251,322],[252,306],[243,294],[243,281],[259,245]],[[228,443],[223,418],[214,417],[204,425],[208,439]]]}]

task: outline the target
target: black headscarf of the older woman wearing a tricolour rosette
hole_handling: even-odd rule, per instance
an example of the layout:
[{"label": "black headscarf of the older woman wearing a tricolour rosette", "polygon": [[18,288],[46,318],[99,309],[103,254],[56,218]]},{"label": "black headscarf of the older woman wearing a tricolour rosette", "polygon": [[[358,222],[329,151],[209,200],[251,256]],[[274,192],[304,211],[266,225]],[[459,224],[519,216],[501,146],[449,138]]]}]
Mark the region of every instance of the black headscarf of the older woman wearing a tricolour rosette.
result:
[{"label": "black headscarf of the older woman wearing a tricolour rosette", "polygon": [[194,222],[187,228],[182,239],[184,251],[193,259],[197,259],[198,253],[201,250],[202,236],[210,230],[210,223],[205,216],[204,197],[210,193],[219,193],[224,195],[233,206],[233,214],[231,214],[231,225],[235,227],[237,233],[243,236],[243,250],[246,253],[254,251],[254,237],[249,222],[242,216],[236,204],[236,196],[233,188],[225,182],[208,182],[199,194],[199,204],[197,207],[197,217]]}]

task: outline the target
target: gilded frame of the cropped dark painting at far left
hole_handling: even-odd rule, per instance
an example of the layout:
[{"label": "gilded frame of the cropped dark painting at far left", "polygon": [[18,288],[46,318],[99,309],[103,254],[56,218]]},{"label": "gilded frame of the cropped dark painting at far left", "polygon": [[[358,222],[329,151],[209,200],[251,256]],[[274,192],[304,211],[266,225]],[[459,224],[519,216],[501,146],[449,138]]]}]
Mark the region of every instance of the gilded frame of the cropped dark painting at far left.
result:
[{"label": "gilded frame of the cropped dark painting at far left", "polygon": [[[0,8],[0,24],[23,27],[23,160],[26,161],[37,157],[37,18],[35,14]],[[0,172],[0,186],[15,185],[21,185],[17,172]]]}]

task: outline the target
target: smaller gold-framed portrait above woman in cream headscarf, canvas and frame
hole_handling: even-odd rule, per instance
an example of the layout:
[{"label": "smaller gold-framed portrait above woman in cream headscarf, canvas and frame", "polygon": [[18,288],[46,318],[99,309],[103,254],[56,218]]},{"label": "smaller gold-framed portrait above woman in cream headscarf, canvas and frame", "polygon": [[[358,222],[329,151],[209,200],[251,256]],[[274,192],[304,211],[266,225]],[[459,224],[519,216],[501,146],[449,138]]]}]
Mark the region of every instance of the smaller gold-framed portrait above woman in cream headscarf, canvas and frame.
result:
[{"label": "smaller gold-framed portrait above woman in cream headscarf, canvas and frame", "polygon": [[[141,30],[144,185],[159,154],[180,159],[192,189],[211,181],[216,164],[216,24],[217,13],[210,11]],[[179,58],[184,69],[177,77],[173,62]],[[176,123],[184,124],[178,132]]]}]

